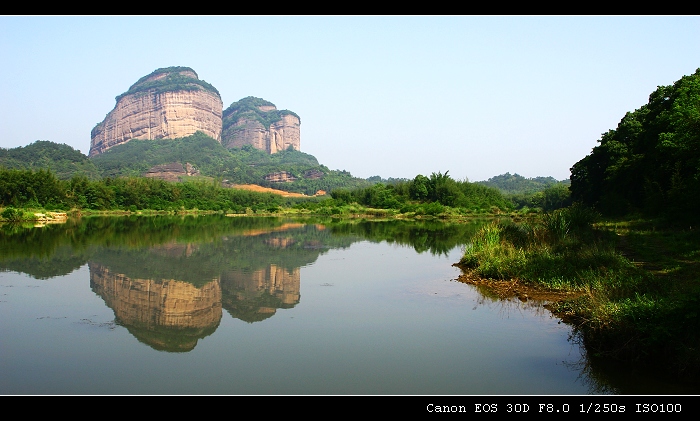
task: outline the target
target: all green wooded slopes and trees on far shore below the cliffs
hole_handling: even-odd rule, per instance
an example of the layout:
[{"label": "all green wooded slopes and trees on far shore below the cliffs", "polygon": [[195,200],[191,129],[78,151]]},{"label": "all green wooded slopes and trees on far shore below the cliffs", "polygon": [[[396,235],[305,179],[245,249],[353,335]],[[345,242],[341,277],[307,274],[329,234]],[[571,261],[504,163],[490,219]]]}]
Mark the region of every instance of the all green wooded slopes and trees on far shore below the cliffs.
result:
[{"label": "all green wooded slopes and trees on far shore below the cliffs", "polygon": [[[246,208],[262,210],[295,205],[322,214],[357,213],[359,206],[432,216],[503,212],[523,207],[514,206],[513,198],[496,188],[466,180],[457,181],[448,172],[432,173],[429,177],[419,174],[414,179],[385,180],[374,176],[365,180],[344,170],[330,170],[320,165],[314,156],[291,148],[275,154],[249,145],[227,149],[202,132],[180,139],[134,139],[90,159],[68,146],[52,142],[37,142],[30,146],[3,151],[4,155],[0,155],[15,157],[16,162],[25,165],[27,162],[40,163],[40,169],[36,171],[0,167],[0,206],[48,210],[174,211],[196,208],[242,212]],[[32,150],[32,154],[28,150]],[[71,171],[76,167],[73,165],[58,177],[53,171],[44,169],[53,167],[53,164],[46,164],[49,162],[46,157],[63,162],[64,155],[70,155],[73,161],[88,165],[93,171],[87,174]],[[39,160],[34,158],[36,156],[43,158]],[[143,178],[154,166],[170,163],[191,164],[199,175],[183,175],[180,180],[184,183]],[[99,175],[96,175],[98,171]],[[266,176],[282,171],[287,172],[293,181],[266,179]],[[278,196],[261,198],[250,192],[234,192],[227,188],[235,184],[256,184],[308,196],[322,190],[331,193],[333,199],[293,203]],[[567,199],[568,190],[557,183],[531,195],[527,206],[556,208]]]}]

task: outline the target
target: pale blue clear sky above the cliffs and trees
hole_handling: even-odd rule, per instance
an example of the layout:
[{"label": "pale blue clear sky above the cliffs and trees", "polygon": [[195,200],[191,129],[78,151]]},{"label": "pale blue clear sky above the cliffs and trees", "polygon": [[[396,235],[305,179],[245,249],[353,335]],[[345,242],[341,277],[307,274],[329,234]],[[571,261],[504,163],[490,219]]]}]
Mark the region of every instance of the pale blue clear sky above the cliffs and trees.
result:
[{"label": "pale blue clear sky above the cliffs and trees", "polygon": [[0,147],[88,153],[115,97],[186,66],[301,118],[367,178],[568,179],[658,86],[700,68],[700,16],[0,16]]}]

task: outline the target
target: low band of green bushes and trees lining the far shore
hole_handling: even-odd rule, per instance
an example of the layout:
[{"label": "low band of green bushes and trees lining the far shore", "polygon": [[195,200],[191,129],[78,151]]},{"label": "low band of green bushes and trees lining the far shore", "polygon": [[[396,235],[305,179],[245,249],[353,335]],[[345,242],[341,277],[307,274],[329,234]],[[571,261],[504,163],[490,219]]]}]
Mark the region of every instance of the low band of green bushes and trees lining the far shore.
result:
[{"label": "low band of green bushes and trees lining the far shore", "polygon": [[[248,152],[257,153],[252,149]],[[292,159],[308,163],[309,158],[296,151],[285,153],[292,154]],[[307,182],[327,183],[328,178]],[[338,178],[347,180],[350,175],[341,174]],[[365,186],[370,184],[366,180],[360,181]],[[90,180],[80,175],[59,180],[45,170],[0,169],[2,208],[5,208],[2,211],[5,220],[26,219],[21,216],[25,214],[16,213],[18,209],[169,213],[186,210],[278,213],[284,209],[288,213],[327,216],[452,218],[500,213],[511,210],[512,205],[496,189],[458,182],[447,173],[433,173],[430,178],[418,175],[412,181],[390,185],[375,183],[369,187],[335,189],[331,191],[331,198],[288,198],[228,188],[220,179],[205,177],[187,177],[178,183],[135,176]]]}]

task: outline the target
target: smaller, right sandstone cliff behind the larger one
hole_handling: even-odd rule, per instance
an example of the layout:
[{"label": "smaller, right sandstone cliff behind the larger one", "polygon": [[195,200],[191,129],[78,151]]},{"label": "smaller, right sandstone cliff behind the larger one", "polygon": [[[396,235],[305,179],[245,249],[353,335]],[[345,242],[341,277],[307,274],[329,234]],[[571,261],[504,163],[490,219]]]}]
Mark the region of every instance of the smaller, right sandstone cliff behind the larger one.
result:
[{"label": "smaller, right sandstone cliff behind the larger one", "polygon": [[227,148],[251,145],[276,153],[293,148],[300,150],[299,116],[289,110],[278,110],[262,98],[246,97],[234,102],[223,112],[221,143]]}]

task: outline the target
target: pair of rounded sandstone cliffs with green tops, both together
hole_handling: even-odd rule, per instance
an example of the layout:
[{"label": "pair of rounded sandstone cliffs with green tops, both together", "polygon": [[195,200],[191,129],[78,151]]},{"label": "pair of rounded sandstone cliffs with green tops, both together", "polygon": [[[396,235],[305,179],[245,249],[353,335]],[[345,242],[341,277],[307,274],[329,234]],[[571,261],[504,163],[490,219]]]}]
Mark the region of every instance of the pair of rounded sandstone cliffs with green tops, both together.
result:
[{"label": "pair of rounded sandstone cliffs with green tops, both together", "polygon": [[223,110],[219,92],[189,67],[157,69],[117,96],[91,133],[93,157],[133,139],[183,138],[202,132],[227,148],[251,145],[267,153],[300,150],[299,116],[247,97]]}]

